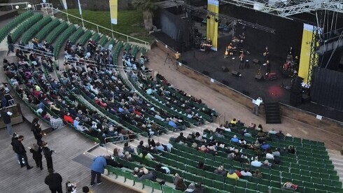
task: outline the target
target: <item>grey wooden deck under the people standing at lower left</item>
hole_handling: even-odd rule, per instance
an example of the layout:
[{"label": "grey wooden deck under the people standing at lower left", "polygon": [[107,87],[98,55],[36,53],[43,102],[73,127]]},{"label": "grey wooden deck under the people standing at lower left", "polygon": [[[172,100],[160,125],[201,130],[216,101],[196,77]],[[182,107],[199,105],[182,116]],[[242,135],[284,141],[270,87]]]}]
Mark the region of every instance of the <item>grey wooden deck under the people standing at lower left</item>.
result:
[{"label": "grey wooden deck under the people standing at lower left", "polygon": [[[25,136],[23,141],[25,147],[36,142],[29,126],[29,122],[13,126],[13,131]],[[90,169],[73,159],[91,148],[94,145],[92,141],[69,127],[52,131],[43,136],[43,140],[48,141],[50,149],[57,151],[52,155],[52,160],[55,171],[63,178],[63,187],[68,180],[76,183],[78,190],[85,185],[90,185]],[[48,175],[44,158],[43,171],[36,167],[27,171],[26,168],[20,168],[10,145],[10,136],[6,134],[5,129],[0,130],[0,145],[3,147],[0,150],[0,192],[49,192],[48,186],[44,183],[45,176]],[[35,166],[31,153],[27,155],[29,164]],[[134,192],[105,179],[102,185],[95,185],[90,189],[94,192]]]}]

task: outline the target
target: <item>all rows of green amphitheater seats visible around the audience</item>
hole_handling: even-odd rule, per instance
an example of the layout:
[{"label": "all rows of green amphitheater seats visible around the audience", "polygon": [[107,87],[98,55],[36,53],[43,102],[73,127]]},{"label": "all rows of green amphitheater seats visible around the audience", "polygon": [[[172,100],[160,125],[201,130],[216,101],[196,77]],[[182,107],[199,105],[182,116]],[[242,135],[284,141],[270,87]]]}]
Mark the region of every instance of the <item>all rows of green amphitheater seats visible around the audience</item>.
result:
[{"label": "all rows of green amphitheater seats visible around the audience", "polygon": [[[22,15],[26,15],[25,17]],[[72,43],[75,43],[79,40],[79,43],[81,45],[85,45],[87,40],[89,38],[93,38],[94,41],[99,42],[101,45],[114,45],[114,49],[112,51],[113,54],[113,64],[118,66],[118,56],[120,55],[120,52],[122,50],[126,50],[127,52],[132,52],[132,55],[136,56],[138,52],[145,53],[145,48],[139,49],[137,45],[132,46],[130,43],[123,43],[123,41],[116,41],[113,38],[108,39],[106,36],[102,36],[101,34],[95,33],[92,36],[92,32],[87,30],[84,31],[82,28],[78,28],[76,30],[76,27],[71,24],[68,26],[66,22],[59,22],[59,20],[49,19],[50,17],[42,17],[42,16],[36,16],[33,15],[31,12],[25,12],[22,15],[18,16],[14,22],[10,22],[12,24],[8,24],[8,27],[6,29],[0,29],[0,38],[3,36],[6,36],[8,31],[12,30],[15,24],[20,24],[17,29],[15,29],[15,38],[18,40],[20,38],[21,34],[24,34],[22,38],[27,41],[31,37],[36,36],[41,40],[45,38],[46,41],[49,43],[55,42],[55,57],[58,56],[59,50],[62,48],[63,43],[66,41],[66,39],[69,38]],[[39,14],[37,14],[39,15]],[[31,17],[29,17],[31,16]],[[26,18],[27,17],[27,18]],[[26,19],[26,20],[25,20]],[[7,26],[7,25],[6,25]],[[39,29],[43,27],[41,31]],[[28,30],[27,30],[28,29]],[[26,32],[25,32],[26,31]],[[39,32],[38,32],[39,31]],[[49,33],[52,31],[51,33]],[[5,33],[6,32],[6,33]],[[5,34],[5,35],[3,35]],[[48,36],[47,36],[48,35]],[[57,41],[55,41],[57,40]],[[34,70],[34,69],[33,69]],[[47,79],[45,81],[39,80],[37,77],[34,77],[35,83],[38,85],[41,85],[41,88],[43,91],[48,92],[48,90],[43,89],[45,83],[50,83],[49,81],[49,74],[48,71],[46,71],[45,68],[43,68],[43,72],[39,72],[39,75],[45,76]],[[59,77],[60,78],[60,77]],[[71,77],[69,77],[71,78]],[[102,78],[109,78],[109,75],[102,75]],[[124,80],[121,76],[118,75],[120,80],[123,81],[123,83],[126,84],[127,87],[130,87],[129,84],[127,84],[126,80]],[[106,80],[106,79],[103,79]],[[62,82],[62,81],[61,81]],[[11,80],[8,80],[8,83],[11,83]],[[133,80],[131,80],[131,83],[134,83]],[[139,83],[143,83],[140,81]],[[189,106],[195,110],[195,112],[199,113],[199,115],[202,115],[202,118],[206,121],[211,121],[210,116],[203,113],[201,110],[202,108],[205,108],[206,110],[210,110],[212,115],[216,115],[215,110],[211,110],[206,105],[202,103],[197,103],[192,100],[189,96],[185,96],[181,94],[180,92],[174,90],[171,87],[168,87],[167,84],[165,84],[165,80],[162,79],[161,76],[158,77],[158,80],[156,83],[148,82],[150,84],[159,84],[163,85],[169,92],[172,94],[173,99],[177,100],[177,103],[173,105],[173,108],[175,110],[171,110],[171,108],[165,108],[161,105],[161,103],[165,103],[166,101],[162,99],[158,95],[153,95],[154,98],[152,98],[150,95],[146,95],[146,92],[144,90],[141,90],[140,87],[136,83],[134,83],[134,87],[137,91],[139,91],[143,96],[146,97],[149,101],[146,101],[146,103],[153,103],[156,108],[159,108],[161,110],[164,110],[167,113],[170,113],[169,115],[179,115],[183,114],[184,111],[181,108],[183,101],[190,101]],[[144,84],[144,83],[143,83]],[[66,87],[66,90],[69,90],[70,94],[74,98],[76,98],[76,101],[78,103],[83,104],[89,109],[92,109],[93,107],[88,106],[85,101],[81,97],[78,97],[77,94],[73,93],[71,90],[71,87]],[[106,85],[109,86],[109,85]],[[22,87],[23,90],[29,90],[29,87],[26,87],[25,84],[21,84],[20,87]],[[113,89],[113,88],[112,88]],[[135,125],[130,124],[129,122],[123,122],[123,120],[120,120],[120,117],[113,115],[109,113],[106,109],[101,108],[97,103],[94,103],[94,100],[90,99],[87,94],[83,92],[83,88],[79,87],[80,94],[83,96],[83,98],[87,101],[89,101],[92,106],[95,108],[98,108],[99,110],[106,115],[106,117],[109,117],[111,120],[115,120],[115,122],[120,122],[120,124],[123,124],[125,129],[130,129],[134,132],[141,133],[143,132],[141,129],[137,128]],[[128,96],[130,95],[130,92],[124,92]],[[21,93],[18,93],[18,96],[20,96]],[[51,101],[55,101],[50,96],[47,96],[48,99]],[[66,101],[68,105],[73,105],[72,101],[67,99],[65,96],[60,96],[62,99]],[[175,98],[174,98],[175,97]],[[21,96],[20,96],[21,98]],[[38,100],[38,99],[36,99]],[[114,100],[114,103],[120,102],[120,99]],[[160,103],[161,102],[161,103]],[[39,113],[36,113],[36,108],[32,106],[30,103],[27,103],[27,106],[34,112],[38,117],[41,117]],[[58,105],[58,104],[57,104]],[[144,106],[146,107],[146,106]],[[63,110],[68,110],[67,108],[64,108],[62,106],[59,106],[59,108],[62,108]],[[54,115],[54,112],[50,109],[46,109],[48,113],[51,115]],[[181,113],[179,113],[181,112]],[[149,113],[145,113],[146,117],[151,118],[151,120],[154,119]],[[42,117],[41,117],[42,118]],[[44,119],[43,119],[44,120]],[[186,122],[188,122],[188,127],[190,127],[191,124],[195,124],[192,120],[186,119]],[[45,120],[46,121],[46,120]],[[158,122],[158,120],[155,120]],[[116,124],[113,122],[113,124]],[[164,122],[158,122],[161,127],[168,128],[167,125],[165,125]],[[203,138],[209,139],[210,137],[221,141],[225,144],[226,147],[228,146],[234,146],[236,148],[239,148],[239,146],[235,143],[230,142],[230,138],[232,138],[233,135],[237,135],[238,137],[243,137],[239,134],[240,129],[246,129],[245,127],[236,127],[232,128],[232,132],[226,132],[224,133],[225,138],[218,138],[216,136],[211,136],[211,134],[207,133],[207,136],[204,136]],[[169,128],[170,129],[170,128]],[[253,136],[255,136],[255,131],[249,130]],[[97,143],[101,143],[99,138],[90,136],[88,134],[85,134],[83,132],[80,132],[85,137],[90,138],[92,141],[95,141]],[[255,137],[244,137],[246,141],[249,143],[252,143],[255,141]],[[287,181],[291,181],[296,185],[299,185],[299,188],[296,192],[343,192],[342,190],[342,183],[339,182],[339,178],[337,176],[337,171],[335,171],[334,167],[332,166],[332,162],[328,158],[328,152],[326,152],[324,143],[317,142],[317,141],[309,141],[301,138],[291,138],[291,137],[285,137],[277,139],[276,137],[272,136],[272,141],[268,142],[272,148],[283,148],[287,147],[288,145],[293,145],[295,147],[296,153],[295,154],[286,154],[281,155],[281,164],[279,166],[272,166],[271,169],[266,168],[258,168],[263,174],[263,178],[253,178],[248,177],[244,178],[244,180],[232,180],[229,178],[223,178],[223,176],[216,175],[213,173],[214,169],[218,166],[223,164],[225,169],[237,169],[241,170],[244,168],[251,169],[251,171],[255,171],[255,167],[250,166],[249,164],[242,164],[240,162],[235,162],[232,160],[227,159],[227,153],[225,152],[225,149],[218,148],[218,155],[210,155],[208,153],[199,152],[193,148],[188,147],[188,145],[181,145],[179,143],[175,143],[172,139],[170,141],[172,145],[174,145],[174,148],[172,148],[171,152],[160,152],[158,155],[153,155],[156,160],[148,161],[146,159],[141,159],[137,155],[132,155],[132,158],[134,159],[134,162],[127,162],[123,159],[116,158],[116,161],[120,164],[124,165],[124,169],[117,169],[113,168],[112,166],[108,166],[108,170],[110,173],[115,173],[115,176],[124,176],[125,180],[132,181],[132,185],[134,186],[136,183],[142,183],[144,186],[153,187],[153,190],[162,190],[163,192],[179,192],[177,190],[174,190],[174,188],[169,187],[169,185],[160,185],[155,182],[151,182],[148,180],[144,180],[142,182],[139,182],[137,177],[132,176],[130,171],[134,169],[134,167],[141,168],[142,166],[145,166],[149,170],[153,171],[155,166],[159,163],[162,163],[169,167],[171,174],[164,174],[160,172],[156,172],[156,175],[160,180],[165,180],[168,183],[173,183],[174,177],[173,175],[175,173],[179,173],[180,176],[182,176],[185,179],[186,185],[189,185],[190,183],[198,183],[201,182],[205,188],[205,192],[289,192],[286,190],[281,190],[281,185]],[[253,150],[243,149],[242,152],[248,157],[255,156],[255,152]],[[309,158],[310,157],[310,158]],[[204,164],[207,165],[206,170],[197,169],[197,163],[198,162],[204,162]],[[144,187],[143,186],[143,187]]]}]

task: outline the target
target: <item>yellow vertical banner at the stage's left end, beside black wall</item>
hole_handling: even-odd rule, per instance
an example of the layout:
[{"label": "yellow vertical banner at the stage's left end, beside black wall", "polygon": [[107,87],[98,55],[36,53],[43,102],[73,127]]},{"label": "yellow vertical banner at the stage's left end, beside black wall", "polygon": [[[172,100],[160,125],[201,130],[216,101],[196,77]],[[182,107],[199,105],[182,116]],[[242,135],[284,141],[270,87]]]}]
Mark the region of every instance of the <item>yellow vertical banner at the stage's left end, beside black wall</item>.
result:
[{"label": "yellow vertical banner at the stage's left end, beside black wall", "polygon": [[[211,11],[212,13],[219,13],[219,1],[218,0],[208,0],[207,10]],[[215,15],[209,15],[210,18],[207,19],[207,31],[206,37],[207,40],[211,39],[212,41],[212,50],[216,50],[218,48],[218,22],[216,22]],[[217,18],[218,21],[218,18]]]}]

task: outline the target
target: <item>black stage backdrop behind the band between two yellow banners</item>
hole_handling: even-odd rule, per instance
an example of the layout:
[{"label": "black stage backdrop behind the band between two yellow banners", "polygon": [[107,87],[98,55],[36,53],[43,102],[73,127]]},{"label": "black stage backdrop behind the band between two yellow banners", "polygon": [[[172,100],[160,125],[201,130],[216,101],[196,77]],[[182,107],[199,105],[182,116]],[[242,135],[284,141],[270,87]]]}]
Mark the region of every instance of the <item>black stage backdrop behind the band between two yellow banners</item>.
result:
[{"label": "black stage backdrop behind the band between two yellow banners", "polygon": [[248,50],[256,50],[262,53],[265,46],[268,46],[271,55],[284,58],[287,55],[288,48],[292,46],[295,51],[294,54],[300,55],[303,28],[302,22],[288,20],[279,16],[230,4],[221,5],[219,9],[220,13],[225,15],[276,30],[275,34],[271,34],[259,29],[247,27],[246,45],[250,47]]}]

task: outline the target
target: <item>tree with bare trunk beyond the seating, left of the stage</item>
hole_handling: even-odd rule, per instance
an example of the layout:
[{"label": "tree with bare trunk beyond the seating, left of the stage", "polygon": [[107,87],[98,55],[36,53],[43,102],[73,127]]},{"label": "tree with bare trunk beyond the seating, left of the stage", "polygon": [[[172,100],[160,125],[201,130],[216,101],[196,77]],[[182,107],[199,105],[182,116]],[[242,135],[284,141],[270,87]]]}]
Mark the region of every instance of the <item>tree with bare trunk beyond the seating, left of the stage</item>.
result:
[{"label": "tree with bare trunk beyond the seating, left of the stage", "polygon": [[153,10],[158,6],[155,4],[158,0],[134,0],[134,8],[143,12],[144,28],[148,31],[153,27]]}]

